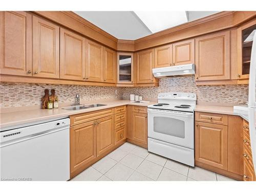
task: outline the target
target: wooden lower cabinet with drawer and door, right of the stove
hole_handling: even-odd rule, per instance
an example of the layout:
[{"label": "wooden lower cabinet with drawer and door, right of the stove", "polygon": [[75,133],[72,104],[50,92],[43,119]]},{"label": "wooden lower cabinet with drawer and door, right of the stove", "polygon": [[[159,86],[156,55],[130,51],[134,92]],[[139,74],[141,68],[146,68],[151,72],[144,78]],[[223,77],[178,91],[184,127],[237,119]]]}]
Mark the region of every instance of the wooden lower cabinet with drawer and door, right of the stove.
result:
[{"label": "wooden lower cabinet with drawer and door, right of the stove", "polygon": [[243,180],[243,119],[195,112],[195,120],[196,166]]}]

